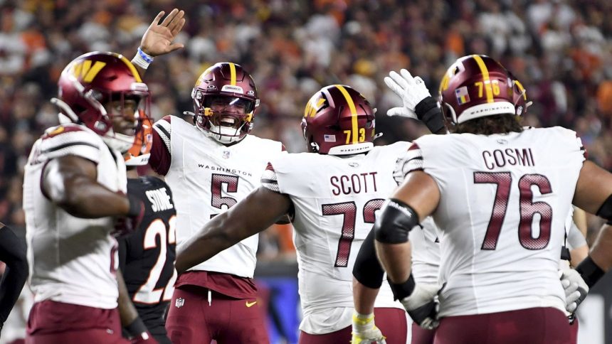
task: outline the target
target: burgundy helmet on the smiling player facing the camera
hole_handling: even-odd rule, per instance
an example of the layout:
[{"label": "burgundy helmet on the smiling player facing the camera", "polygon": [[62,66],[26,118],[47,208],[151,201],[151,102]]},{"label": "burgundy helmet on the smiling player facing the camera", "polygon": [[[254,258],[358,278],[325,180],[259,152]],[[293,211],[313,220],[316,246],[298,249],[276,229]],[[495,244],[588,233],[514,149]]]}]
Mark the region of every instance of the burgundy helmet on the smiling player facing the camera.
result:
[{"label": "burgundy helmet on the smiling player facing the camera", "polygon": [[221,144],[240,141],[253,129],[257,87],[241,65],[211,66],[198,78],[191,98],[196,126]]}]

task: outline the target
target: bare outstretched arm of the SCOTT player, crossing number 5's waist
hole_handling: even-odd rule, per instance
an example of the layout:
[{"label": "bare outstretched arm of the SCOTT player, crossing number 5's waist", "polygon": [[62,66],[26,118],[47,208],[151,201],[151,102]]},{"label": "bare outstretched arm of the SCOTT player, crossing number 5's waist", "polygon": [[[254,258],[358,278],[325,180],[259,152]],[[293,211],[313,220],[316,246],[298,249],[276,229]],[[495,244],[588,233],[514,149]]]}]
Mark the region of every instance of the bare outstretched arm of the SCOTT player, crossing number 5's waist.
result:
[{"label": "bare outstretched arm of the SCOTT player, crossing number 5's waist", "polygon": [[291,199],[263,186],[225,213],[213,217],[196,235],[181,244],[176,252],[176,272],[205,262],[215,254],[251,235],[262,232],[291,208]]}]

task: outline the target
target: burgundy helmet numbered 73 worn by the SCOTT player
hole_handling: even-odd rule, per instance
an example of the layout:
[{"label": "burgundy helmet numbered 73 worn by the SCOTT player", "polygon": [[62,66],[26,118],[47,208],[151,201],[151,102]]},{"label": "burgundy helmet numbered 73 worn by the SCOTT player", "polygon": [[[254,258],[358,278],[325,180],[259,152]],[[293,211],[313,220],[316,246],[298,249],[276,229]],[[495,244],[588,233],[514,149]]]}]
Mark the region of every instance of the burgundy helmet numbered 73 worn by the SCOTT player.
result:
[{"label": "burgundy helmet numbered 73 worn by the SCOTT player", "polygon": [[374,144],[374,109],[346,85],[323,87],[304,110],[302,130],[312,153],[347,155],[369,151]]}]

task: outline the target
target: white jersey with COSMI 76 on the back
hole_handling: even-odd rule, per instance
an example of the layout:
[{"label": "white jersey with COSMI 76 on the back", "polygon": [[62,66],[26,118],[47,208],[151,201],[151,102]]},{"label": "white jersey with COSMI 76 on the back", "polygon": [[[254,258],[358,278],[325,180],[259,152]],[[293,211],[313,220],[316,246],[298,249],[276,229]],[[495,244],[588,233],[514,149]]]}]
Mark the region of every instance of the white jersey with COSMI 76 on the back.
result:
[{"label": "white jersey with COSMI 76 on the back", "polygon": [[440,316],[555,307],[566,217],[584,161],[574,131],[426,135],[398,164],[440,188]]}]

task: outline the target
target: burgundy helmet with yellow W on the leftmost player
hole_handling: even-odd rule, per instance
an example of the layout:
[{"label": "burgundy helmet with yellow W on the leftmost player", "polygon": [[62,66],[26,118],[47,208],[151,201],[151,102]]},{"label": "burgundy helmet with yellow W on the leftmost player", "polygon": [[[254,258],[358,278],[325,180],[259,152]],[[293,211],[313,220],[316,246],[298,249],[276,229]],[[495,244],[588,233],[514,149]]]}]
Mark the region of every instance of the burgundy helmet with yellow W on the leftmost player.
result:
[{"label": "burgundy helmet with yellow W on the leftmost player", "polygon": [[[126,118],[134,121],[134,126],[115,132],[112,119],[125,116],[126,100],[137,104],[133,116]],[[75,58],[60,75],[58,97],[51,102],[60,108],[60,123],[83,124],[122,154],[137,142],[146,141],[145,127],[150,129],[151,125],[149,89],[122,55],[96,51]],[[105,107],[110,102],[113,106]]]}]

